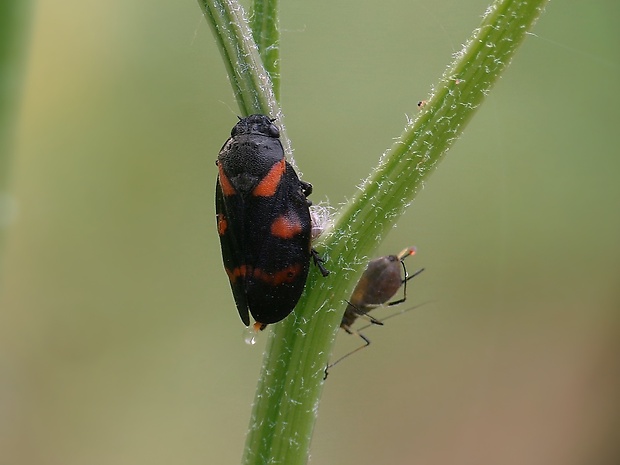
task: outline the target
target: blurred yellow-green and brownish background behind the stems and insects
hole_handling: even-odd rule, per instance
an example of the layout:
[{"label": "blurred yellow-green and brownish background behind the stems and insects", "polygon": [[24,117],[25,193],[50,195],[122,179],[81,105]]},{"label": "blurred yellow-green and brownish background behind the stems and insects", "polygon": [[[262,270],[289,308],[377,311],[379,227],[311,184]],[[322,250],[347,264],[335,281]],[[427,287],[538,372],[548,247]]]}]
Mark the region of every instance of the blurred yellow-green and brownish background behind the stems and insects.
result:
[{"label": "blurred yellow-green and brownish background behind the stems and insects", "polygon": [[[486,5],[281,2],[314,202],[354,194]],[[312,464],[620,462],[618,5],[548,5],[381,245],[417,246],[401,309],[429,303],[331,371]],[[243,343],[221,265],[214,161],[237,108],[211,30],[195,1],[40,0],[31,26],[0,464],[238,463],[266,338]]]}]

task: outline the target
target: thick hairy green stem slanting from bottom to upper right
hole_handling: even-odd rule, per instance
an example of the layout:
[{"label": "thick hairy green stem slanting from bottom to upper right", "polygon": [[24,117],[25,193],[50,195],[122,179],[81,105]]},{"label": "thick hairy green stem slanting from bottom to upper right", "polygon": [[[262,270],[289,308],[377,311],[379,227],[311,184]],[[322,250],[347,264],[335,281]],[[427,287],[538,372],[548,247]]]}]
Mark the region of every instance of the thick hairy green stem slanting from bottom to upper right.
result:
[{"label": "thick hairy green stem slanting from bottom to upper right", "polygon": [[[423,110],[383,154],[316,245],[328,258],[332,274],[322,278],[313,270],[293,314],[273,326],[250,420],[245,465],[307,462],[324,369],[344,299],[366,257],[460,135],[545,4],[546,0],[497,0],[489,6],[482,24],[456,54]],[[219,28],[214,30],[217,35]],[[235,68],[235,63],[228,67]],[[254,92],[263,90],[255,86]]]}]

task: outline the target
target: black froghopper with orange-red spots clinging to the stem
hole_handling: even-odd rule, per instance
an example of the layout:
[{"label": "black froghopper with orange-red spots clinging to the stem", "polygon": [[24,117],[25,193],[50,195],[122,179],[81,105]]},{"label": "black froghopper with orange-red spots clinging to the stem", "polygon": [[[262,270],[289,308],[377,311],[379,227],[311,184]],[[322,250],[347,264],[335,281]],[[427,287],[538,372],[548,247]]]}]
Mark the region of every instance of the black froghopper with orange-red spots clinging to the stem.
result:
[{"label": "black froghopper with orange-red spots clinging to the stem", "polygon": [[217,230],[239,316],[257,327],[289,315],[306,284],[312,249],[312,185],[286,161],[280,131],[265,115],[240,118],[217,157]]}]

